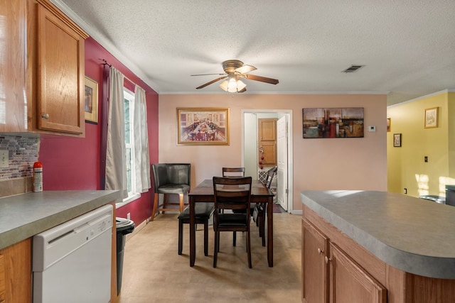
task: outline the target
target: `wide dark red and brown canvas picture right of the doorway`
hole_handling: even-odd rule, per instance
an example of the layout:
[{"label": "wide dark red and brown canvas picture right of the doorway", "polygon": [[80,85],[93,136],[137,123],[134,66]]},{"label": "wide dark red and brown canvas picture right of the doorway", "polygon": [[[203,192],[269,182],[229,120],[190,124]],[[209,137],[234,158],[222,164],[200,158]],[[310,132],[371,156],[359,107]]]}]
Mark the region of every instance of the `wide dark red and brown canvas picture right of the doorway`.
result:
[{"label": "wide dark red and brown canvas picture right of the doorway", "polygon": [[363,107],[302,109],[305,138],[363,138]]}]

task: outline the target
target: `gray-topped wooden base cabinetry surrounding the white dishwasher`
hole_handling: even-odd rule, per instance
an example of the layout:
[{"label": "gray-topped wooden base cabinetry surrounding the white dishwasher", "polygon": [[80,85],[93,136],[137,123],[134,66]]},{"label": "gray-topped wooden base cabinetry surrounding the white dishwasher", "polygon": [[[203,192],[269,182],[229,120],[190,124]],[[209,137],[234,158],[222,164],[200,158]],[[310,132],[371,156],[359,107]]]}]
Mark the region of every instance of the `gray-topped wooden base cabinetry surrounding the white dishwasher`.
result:
[{"label": "gray-topped wooden base cabinetry surrounding the white dishwasher", "polygon": [[[105,204],[114,190],[44,191],[0,198],[0,302],[31,302],[31,238]],[[114,205],[115,217],[115,205]],[[117,302],[116,226],[112,226],[111,302]]]}]

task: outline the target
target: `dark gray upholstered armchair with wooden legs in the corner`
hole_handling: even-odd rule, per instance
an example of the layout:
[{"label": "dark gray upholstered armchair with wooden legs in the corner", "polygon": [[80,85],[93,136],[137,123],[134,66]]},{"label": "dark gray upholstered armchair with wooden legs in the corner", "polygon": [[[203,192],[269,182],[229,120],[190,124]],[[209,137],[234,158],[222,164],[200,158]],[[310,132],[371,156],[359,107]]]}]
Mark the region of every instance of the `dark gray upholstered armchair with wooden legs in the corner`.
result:
[{"label": "dark gray upholstered armchair with wooden legs in the corner", "polygon": [[[176,211],[176,208],[168,208],[168,194],[178,194],[180,212],[183,211],[183,196],[190,191],[191,164],[189,163],[155,163],[151,165],[154,175],[155,200],[151,214],[154,220],[156,211]],[[163,205],[159,207],[159,194],[164,194]]]}]

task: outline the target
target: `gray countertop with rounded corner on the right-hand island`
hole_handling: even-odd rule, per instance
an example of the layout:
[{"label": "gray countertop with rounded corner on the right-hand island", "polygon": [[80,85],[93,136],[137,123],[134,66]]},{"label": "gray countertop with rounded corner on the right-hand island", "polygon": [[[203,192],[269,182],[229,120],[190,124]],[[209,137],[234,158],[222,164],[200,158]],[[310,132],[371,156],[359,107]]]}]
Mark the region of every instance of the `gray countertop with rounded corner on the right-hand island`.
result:
[{"label": "gray countertop with rounded corner on the right-hand island", "polygon": [[380,260],[415,275],[455,279],[455,207],[403,194],[303,191],[301,202]]}]

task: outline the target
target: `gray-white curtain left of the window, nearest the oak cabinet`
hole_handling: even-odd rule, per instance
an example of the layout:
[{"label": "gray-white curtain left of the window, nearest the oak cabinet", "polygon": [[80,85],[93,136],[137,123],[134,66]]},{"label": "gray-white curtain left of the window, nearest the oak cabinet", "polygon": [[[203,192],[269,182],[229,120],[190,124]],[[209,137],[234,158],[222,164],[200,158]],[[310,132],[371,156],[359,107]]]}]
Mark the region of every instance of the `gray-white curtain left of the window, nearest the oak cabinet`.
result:
[{"label": "gray-white curtain left of the window, nearest the oak cabinet", "polygon": [[110,67],[105,189],[120,190],[120,200],[128,197],[123,81],[124,75]]}]

